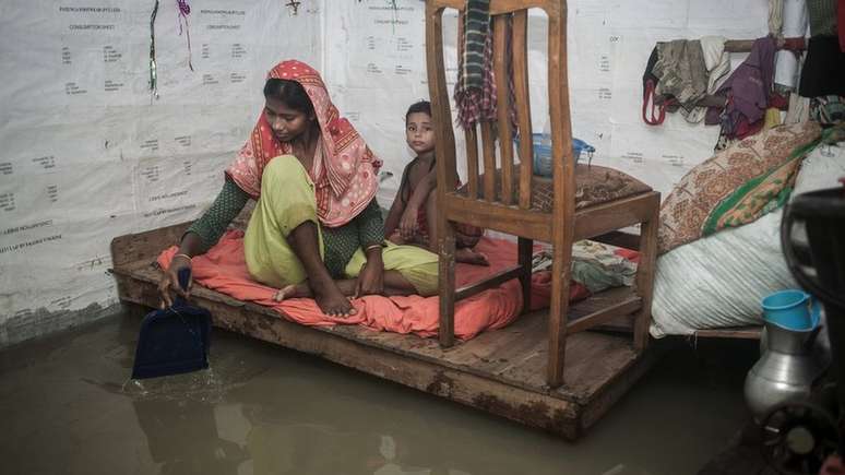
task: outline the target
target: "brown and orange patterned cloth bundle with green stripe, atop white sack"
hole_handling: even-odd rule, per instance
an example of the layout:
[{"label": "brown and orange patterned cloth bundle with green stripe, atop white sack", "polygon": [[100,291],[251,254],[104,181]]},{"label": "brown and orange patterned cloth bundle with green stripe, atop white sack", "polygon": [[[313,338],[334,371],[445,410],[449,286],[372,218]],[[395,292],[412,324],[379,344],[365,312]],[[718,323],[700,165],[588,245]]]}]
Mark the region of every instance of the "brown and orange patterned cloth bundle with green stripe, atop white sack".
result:
[{"label": "brown and orange patterned cloth bundle with green stripe, atop white sack", "polygon": [[774,127],[697,165],[660,205],[658,252],[737,227],[789,197],[801,159],[821,136],[816,122]]}]

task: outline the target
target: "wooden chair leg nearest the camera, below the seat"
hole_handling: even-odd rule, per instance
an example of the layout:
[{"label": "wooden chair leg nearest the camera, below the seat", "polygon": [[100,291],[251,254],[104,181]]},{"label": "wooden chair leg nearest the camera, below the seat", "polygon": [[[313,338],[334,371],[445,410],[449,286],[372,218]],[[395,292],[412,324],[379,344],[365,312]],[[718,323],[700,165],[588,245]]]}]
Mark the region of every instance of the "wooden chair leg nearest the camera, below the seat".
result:
[{"label": "wooden chair leg nearest the camera, below the seat", "polygon": [[551,263],[551,305],[549,307],[549,360],[547,381],[550,388],[563,384],[569,319],[569,283],[572,277],[572,242],[555,246]]}]

